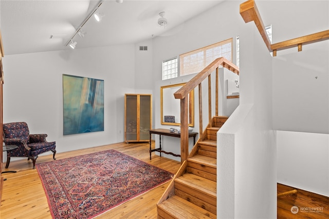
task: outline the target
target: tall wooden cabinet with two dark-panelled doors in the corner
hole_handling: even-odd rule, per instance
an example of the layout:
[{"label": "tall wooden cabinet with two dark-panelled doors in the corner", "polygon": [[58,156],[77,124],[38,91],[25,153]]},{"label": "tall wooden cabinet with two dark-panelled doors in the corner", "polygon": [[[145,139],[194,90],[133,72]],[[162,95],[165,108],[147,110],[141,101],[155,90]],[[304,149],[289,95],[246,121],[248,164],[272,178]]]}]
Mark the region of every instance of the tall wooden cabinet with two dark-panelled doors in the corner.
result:
[{"label": "tall wooden cabinet with two dark-panelled doors in the corner", "polygon": [[124,141],[149,142],[152,129],[152,94],[124,95]]}]

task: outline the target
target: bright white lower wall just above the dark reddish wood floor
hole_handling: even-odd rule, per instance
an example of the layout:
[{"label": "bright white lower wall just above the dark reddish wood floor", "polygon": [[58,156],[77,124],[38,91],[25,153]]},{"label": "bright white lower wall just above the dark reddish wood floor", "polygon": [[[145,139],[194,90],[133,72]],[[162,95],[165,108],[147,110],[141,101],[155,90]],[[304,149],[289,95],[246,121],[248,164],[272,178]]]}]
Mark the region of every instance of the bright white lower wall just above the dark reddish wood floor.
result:
[{"label": "bright white lower wall just above the dark reddish wood floor", "polygon": [[277,131],[278,183],[329,196],[329,134]]}]

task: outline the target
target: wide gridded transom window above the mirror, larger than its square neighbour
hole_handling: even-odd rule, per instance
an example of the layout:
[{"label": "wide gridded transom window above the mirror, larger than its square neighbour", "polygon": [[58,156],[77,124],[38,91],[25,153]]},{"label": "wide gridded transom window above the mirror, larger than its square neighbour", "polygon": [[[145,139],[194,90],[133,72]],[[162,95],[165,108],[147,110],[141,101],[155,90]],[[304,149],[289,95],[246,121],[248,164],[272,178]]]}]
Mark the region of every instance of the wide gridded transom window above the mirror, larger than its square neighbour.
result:
[{"label": "wide gridded transom window above the mirror, larger than its square neighbour", "polygon": [[232,62],[232,38],[179,55],[179,75],[198,73],[219,57]]}]

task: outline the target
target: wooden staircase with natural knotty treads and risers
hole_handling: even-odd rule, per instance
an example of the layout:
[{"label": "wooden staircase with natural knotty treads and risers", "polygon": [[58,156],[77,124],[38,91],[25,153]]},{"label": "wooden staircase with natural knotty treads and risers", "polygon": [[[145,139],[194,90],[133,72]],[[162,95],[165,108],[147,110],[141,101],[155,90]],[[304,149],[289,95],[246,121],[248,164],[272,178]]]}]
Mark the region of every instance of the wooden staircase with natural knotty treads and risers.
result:
[{"label": "wooden staircase with natural knotty treads and risers", "polygon": [[227,118],[212,118],[158,202],[158,218],[216,218],[217,131]]}]

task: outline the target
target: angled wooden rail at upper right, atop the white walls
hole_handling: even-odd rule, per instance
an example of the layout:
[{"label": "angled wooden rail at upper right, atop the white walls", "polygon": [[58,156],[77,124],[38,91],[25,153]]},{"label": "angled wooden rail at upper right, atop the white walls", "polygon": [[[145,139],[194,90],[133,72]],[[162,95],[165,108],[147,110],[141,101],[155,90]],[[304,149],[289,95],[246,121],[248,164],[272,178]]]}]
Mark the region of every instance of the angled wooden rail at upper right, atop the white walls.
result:
[{"label": "angled wooden rail at upper right, atop the white walls", "polygon": [[258,31],[260,32],[264,40],[267,49],[270,52],[273,52],[273,56],[277,56],[277,51],[279,50],[289,49],[293,47],[298,47],[298,51],[300,52],[302,51],[303,45],[317,43],[329,39],[329,30],[325,30],[314,34],[289,39],[280,43],[271,44],[262,21],[262,17],[257,9],[254,0],[248,0],[247,2],[242,3],[240,5],[240,14],[244,19],[245,23],[254,21],[256,27],[258,28]]}]

